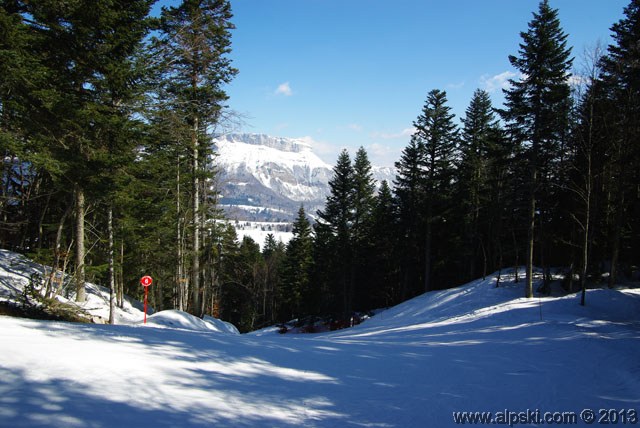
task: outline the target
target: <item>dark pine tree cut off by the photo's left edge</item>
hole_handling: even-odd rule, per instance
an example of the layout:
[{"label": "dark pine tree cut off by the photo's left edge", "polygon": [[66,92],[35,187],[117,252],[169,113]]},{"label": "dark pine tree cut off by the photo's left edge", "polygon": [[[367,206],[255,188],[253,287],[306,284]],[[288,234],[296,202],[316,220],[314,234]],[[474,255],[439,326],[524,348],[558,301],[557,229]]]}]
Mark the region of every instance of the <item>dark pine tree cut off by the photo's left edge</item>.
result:
[{"label": "dark pine tree cut off by the photo's left edge", "polygon": [[[4,160],[0,170],[0,245],[18,250],[30,241],[25,230],[29,222],[25,220],[31,216],[27,209],[36,204],[29,195],[43,200],[37,189],[44,184],[35,186],[42,169],[33,164],[33,159],[42,142],[34,138],[30,125],[34,112],[31,105],[37,102],[33,94],[46,84],[46,68],[32,48],[38,38],[25,22],[23,9],[18,2],[4,2],[0,7],[0,156]],[[35,208],[37,212],[46,211]],[[36,245],[42,245],[40,238]]]}]

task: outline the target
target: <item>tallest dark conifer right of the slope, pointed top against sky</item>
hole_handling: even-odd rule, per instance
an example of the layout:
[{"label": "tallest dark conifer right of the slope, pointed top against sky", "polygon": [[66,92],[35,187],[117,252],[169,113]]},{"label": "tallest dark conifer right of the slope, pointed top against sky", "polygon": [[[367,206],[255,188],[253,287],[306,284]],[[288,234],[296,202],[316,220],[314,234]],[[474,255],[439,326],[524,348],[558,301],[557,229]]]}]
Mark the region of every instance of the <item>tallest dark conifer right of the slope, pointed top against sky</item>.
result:
[{"label": "tallest dark conifer right of the slope, pointed top against sky", "polygon": [[[513,138],[527,146],[529,169],[528,238],[525,295],[533,296],[533,253],[536,211],[546,217],[544,206],[537,206],[540,188],[549,190],[553,162],[567,138],[570,112],[569,71],[571,49],[560,27],[558,12],[548,0],[540,2],[527,32],[520,33],[519,55],[509,56],[522,78],[511,80],[505,90],[503,118]],[[542,220],[544,221],[544,219]],[[543,239],[543,245],[544,237]]]}]

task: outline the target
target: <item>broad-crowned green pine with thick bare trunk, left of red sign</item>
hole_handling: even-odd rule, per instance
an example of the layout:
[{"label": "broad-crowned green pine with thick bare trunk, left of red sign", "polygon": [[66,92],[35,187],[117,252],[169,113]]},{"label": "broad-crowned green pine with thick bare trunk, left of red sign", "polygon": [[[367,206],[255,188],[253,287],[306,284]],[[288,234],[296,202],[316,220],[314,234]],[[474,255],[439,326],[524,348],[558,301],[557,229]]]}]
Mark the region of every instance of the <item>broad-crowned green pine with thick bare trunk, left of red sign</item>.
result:
[{"label": "broad-crowned green pine with thick bare trunk, left of red sign", "polygon": [[151,1],[16,2],[28,16],[39,87],[30,88],[29,127],[42,142],[29,159],[75,195],[76,299],[84,301],[85,204],[114,186],[132,158],[131,57],[148,29]]}]

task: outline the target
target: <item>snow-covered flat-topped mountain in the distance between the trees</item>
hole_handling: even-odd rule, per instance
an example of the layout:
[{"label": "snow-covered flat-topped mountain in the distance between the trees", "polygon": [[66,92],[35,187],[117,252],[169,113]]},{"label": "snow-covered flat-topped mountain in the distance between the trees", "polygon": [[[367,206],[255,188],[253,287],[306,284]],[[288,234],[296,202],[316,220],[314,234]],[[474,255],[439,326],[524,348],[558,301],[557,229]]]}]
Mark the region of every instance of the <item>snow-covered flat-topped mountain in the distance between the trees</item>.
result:
[{"label": "snow-covered flat-topped mountain in the distance between the trees", "polygon": [[[220,203],[232,219],[291,221],[301,204],[314,214],[329,194],[333,166],[309,139],[227,134],[213,140]],[[393,180],[391,168],[373,168],[376,180]]]}]

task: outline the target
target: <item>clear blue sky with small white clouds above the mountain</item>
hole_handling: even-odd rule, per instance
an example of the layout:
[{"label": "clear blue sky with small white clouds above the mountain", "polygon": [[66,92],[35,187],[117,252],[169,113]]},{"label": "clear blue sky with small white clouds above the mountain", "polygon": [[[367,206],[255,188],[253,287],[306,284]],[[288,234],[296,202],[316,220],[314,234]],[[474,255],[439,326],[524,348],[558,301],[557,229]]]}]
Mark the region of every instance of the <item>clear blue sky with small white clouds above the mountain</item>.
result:
[{"label": "clear blue sky with small white clouds above the mountain", "polygon": [[[178,0],[160,4],[176,5]],[[551,0],[573,48],[574,67],[629,0]],[[432,89],[447,93],[456,123],[476,89],[495,107],[515,76],[538,0],[231,0],[230,58],[239,74],[226,88],[242,118],[236,131],[308,137],[334,164],[364,147],[374,165],[400,158]]]}]

